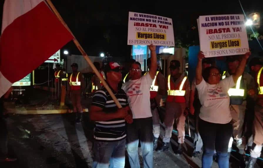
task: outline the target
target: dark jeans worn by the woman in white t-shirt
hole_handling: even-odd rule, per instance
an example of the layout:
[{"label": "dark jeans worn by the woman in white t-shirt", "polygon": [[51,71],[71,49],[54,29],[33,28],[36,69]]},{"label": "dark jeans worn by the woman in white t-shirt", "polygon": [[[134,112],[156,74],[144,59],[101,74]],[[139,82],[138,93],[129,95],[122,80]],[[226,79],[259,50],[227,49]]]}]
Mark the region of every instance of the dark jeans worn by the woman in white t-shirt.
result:
[{"label": "dark jeans worn by the woman in white t-shirt", "polygon": [[204,145],[202,167],[206,168],[212,166],[213,155],[216,150],[219,167],[228,168],[229,158],[227,150],[229,140],[233,134],[232,123],[217,124],[199,119],[199,133]]}]

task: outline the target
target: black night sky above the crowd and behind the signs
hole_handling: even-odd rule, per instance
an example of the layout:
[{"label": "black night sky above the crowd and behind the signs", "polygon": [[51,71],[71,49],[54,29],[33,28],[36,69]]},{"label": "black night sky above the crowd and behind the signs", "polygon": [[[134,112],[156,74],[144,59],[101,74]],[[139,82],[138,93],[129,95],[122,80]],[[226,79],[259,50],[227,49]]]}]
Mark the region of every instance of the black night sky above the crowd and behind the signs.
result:
[{"label": "black night sky above the crowd and behind the signs", "polygon": [[[1,1],[1,18],[3,0]],[[52,0],[69,28],[88,55],[108,52],[111,56],[129,56],[127,45],[128,11],[149,13],[172,18],[175,40],[198,45],[196,19],[200,15],[242,14],[238,0],[207,1],[97,1]],[[242,0],[246,14],[260,12],[263,0]],[[0,22],[1,23],[1,22]],[[263,26],[261,26],[263,27]],[[263,35],[263,32],[259,33]],[[80,54],[73,42],[65,47],[71,54]]]}]

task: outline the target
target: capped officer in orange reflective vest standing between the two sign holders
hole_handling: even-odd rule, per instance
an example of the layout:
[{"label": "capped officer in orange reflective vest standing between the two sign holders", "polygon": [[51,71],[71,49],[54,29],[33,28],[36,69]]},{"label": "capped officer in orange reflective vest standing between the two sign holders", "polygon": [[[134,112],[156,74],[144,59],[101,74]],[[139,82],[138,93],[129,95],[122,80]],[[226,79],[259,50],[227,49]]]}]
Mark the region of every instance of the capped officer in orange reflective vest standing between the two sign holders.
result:
[{"label": "capped officer in orange reflective vest standing between the two sign holders", "polygon": [[178,147],[176,154],[182,154],[182,143],[185,138],[185,116],[189,111],[190,83],[185,74],[179,73],[180,62],[172,60],[170,62],[171,74],[167,77],[167,99],[165,111],[165,135],[163,145],[157,148],[158,152],[168,150],[170,138],[172,136],[173,124],[177,125]]}]

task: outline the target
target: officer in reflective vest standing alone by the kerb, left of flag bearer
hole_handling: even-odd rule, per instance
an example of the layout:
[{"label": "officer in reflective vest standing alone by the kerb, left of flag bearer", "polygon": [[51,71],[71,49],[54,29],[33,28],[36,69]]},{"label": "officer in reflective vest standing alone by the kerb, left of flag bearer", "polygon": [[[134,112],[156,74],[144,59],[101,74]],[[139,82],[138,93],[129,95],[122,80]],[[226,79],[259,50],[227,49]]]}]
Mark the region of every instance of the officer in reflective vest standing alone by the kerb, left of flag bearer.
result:
[{"label": "officer in reflective vest standing alone by the kerb, left of flag bearer", "polygon": [[70,98],[73,105],[73,112],[76,114],[76,123],[81,123],[82,121],[82,106],[81,106],[81,94],[85,87],[84,77],[83,75],[78,72],[78,64],[73,63],[72,67],[72,74],[69,77],[69,91]]}]

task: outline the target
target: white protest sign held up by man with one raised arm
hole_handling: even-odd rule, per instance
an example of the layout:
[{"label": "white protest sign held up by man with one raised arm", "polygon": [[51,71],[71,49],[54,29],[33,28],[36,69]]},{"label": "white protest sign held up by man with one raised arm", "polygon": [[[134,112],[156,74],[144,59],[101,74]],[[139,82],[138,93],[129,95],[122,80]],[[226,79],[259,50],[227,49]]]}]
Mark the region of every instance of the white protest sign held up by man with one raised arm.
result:
[{"label": "white protest sign held up by man with one raised arm", "polygon": [[175,46],[172,19],[129,12],[128,45]]}]

